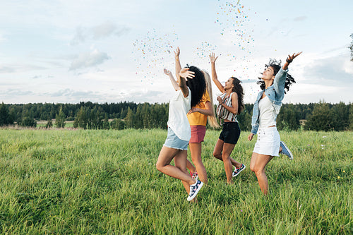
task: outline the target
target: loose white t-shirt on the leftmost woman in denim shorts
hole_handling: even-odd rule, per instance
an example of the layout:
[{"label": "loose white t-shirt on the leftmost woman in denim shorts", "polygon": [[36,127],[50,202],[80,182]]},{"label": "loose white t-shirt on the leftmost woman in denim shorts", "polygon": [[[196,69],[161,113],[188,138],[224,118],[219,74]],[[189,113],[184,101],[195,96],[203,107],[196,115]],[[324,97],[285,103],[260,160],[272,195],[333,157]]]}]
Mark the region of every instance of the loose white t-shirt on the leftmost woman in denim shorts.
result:
[{"label": "loose white t-shirt on the leftmost woman in denim shorts", "polygon": [[181,90],[169,102],[168,126],[181,140],[189,141],[191,138],[191,128],[186,114],[191,109],[191,90],[189,95],[184,97]]}]

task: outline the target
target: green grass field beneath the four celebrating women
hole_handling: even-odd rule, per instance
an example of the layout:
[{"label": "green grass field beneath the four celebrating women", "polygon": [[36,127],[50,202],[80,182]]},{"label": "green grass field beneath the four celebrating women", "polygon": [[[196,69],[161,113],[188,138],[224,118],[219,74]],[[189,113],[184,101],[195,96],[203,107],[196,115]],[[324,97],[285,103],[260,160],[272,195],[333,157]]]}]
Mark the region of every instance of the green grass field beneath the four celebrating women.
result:
[{"label": "green grass field beneath the four celebrating women", "polygon": [[280,132],[294,160],[268,164],[262,195],[249,169],[255,141],[241,133],[244,162],[227,185],[212,156],[198,203],[155,169],[164,130],[0,129],[1,234],[353,234],[353,133]]}]

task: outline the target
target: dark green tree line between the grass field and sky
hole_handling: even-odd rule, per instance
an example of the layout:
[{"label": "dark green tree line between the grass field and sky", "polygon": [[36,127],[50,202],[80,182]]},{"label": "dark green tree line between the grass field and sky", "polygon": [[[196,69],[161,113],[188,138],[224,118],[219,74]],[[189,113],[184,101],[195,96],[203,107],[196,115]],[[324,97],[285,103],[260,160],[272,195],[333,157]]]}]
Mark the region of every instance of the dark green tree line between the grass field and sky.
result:
[{"label": "dark green tree line between the grass field and sky", "polygon": [[[134,102],[78,104],[0,104],[0,126],[37,126],[47,121],[46,127],[63,128],[73,121],[74,128],[117,129],[167,128],[169,104],[136,104]],[[237,116],[241,130],[251,130],[253,104],[245,104]],[[52,122],[55,121],[55,123]],[[353,130],[353,104],[283,104],[277,116],[279,130],[347,131]]]}]

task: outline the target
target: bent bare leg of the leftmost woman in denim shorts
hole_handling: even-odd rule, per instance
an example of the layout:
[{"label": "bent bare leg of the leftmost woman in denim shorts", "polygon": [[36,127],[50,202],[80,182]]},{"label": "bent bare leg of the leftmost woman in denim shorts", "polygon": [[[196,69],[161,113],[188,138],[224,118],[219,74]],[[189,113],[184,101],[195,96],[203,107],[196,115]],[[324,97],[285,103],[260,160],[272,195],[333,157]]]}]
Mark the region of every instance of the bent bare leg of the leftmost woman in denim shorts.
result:
[{"label": "bent bare leg of the leftmost woman in denim shorts", "polygon": [[[183,151],[186,153],[186,150],[183,150]],[[160,150],[160,155],[158,156],[158,159],[157,159],[157,163],[156,163],[157,170],[161,171],[163,174],[167,174],[168,176],[172,176],[176,179],[180,179],[181,181],[185,181],[186,183],[189,183],[189,185],[196,183],[196,180],[192,179],[191,176],[189,176],[189,174],[187,174],[185,171],[182,171],[178,167],[174,167],[171,164],[169,164],[170,162],[172,162],[172,159],[174,157],[180,154],[180,152],[181,150],[176,150],[172,147],[163,146],[162,150]]]}]

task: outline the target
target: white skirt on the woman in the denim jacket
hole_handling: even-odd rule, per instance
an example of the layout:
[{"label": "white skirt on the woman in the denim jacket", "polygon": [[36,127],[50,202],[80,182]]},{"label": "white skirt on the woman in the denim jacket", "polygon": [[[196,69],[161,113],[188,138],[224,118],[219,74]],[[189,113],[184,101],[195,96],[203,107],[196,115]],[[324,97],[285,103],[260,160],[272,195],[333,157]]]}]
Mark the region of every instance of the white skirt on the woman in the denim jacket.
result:
[{"label": "white skirt on the woman in the denim jacket", "polygon": [[261,155],[279,156],[280,133],[277,127],[258,128],[258,140],[253,147],[253,152]]}]

